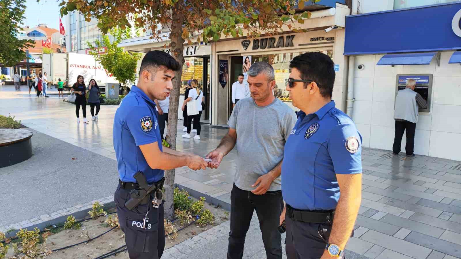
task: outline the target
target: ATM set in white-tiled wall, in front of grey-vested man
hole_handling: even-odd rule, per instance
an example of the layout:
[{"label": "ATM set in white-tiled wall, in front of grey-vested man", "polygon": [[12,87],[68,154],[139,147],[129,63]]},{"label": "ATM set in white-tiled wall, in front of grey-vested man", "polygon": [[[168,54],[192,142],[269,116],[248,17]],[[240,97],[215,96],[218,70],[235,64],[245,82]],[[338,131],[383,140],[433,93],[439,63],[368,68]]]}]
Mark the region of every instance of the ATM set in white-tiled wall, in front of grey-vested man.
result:
[{"label": "ATM set in white-tiled wall, in front of grey-vested man", "polygon": [[397,91],[407,87],[407,80],[413,79],[416,81],[414,91],[420,94],[427,102],[427,109],[421,109],[420,112],[431,111],[431,95],[432,95],[432,74],[398,74],[396,76],[396,97]]}]

